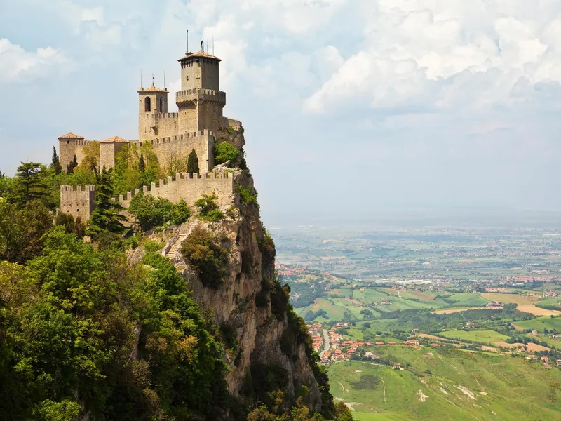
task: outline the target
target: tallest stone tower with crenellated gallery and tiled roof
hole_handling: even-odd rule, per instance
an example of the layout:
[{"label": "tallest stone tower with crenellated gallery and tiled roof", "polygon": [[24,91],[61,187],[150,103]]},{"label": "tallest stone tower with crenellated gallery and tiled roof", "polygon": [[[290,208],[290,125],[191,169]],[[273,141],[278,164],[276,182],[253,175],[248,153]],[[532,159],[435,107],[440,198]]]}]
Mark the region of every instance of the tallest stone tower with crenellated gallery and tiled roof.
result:
[{"label": "tallest stone tower with crenellated gallery and tiled roof", "polygon": [[208,129],[214,133],[222,126],[226,93],[219,91],[220,59],[205,51],[187,53],[181,63],[181,91],[176,94],[180,132]]}]

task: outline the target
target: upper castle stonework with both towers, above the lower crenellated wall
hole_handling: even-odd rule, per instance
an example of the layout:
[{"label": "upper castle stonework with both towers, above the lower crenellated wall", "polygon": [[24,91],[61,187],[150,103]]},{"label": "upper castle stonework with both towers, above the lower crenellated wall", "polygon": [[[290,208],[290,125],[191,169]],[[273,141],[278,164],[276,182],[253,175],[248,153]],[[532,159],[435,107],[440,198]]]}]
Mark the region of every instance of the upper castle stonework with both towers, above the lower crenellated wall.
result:
[{"label": "upper castle stonework with both towers, above the lower crenellated wall", "polygon": [[[138,93],[138,139],[118,136],[100,142],[100,169],[114,168],[115,157],[127,145],[151,142],[162,168],[170,161],[187,156],[195,149],[201,172],[214,165],[212,149],[219,132],[229,127],[241,128],[241,122],[222,116],[226,93],[219,91],[219,58],[205,51],[187,53],[178,60],[181,66],[181,91],[175,95],[178,112],[168,112],[168,89],[158,88],[154,81]],[[91,140],[67,133],[58,138],[60,165],[66,169],[76,156],[83,159],[83,147]]]}]

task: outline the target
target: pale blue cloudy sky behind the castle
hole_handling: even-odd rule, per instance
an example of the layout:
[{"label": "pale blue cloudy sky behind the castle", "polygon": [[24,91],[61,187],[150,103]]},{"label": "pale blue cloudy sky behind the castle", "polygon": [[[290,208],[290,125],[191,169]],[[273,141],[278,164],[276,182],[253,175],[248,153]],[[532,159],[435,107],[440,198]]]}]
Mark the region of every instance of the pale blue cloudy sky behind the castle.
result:
[{"label": "pale blue cloudy sky behind the castle", "polygon": [[266,223],[561,210],[558,0],[0,0],[0,171],[136,139],[140,72],[173,98],[187,29]]}]

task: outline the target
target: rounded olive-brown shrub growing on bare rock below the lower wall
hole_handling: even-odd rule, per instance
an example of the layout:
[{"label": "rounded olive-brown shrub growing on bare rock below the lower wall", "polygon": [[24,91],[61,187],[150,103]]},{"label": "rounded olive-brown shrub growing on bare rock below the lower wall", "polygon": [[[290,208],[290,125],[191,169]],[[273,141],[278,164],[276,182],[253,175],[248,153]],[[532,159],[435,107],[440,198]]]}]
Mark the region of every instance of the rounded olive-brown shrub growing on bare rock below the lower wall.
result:
[{"label": "rounded olive-brown shrub growing on bare rock below the lower wall", "polygon": [[214,234],[196,227],[183,242],[181,253],[196,270],[204,286],[218,288],[226,274],[227,251],[217,243]]}]

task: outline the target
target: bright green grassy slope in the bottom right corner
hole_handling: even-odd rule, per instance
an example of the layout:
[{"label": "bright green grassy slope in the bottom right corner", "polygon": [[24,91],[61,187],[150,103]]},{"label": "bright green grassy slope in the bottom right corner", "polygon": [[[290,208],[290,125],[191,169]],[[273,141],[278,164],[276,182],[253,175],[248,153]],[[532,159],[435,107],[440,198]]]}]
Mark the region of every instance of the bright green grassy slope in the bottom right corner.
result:
[{"label": "bright green grassy slope in the bottom right corner", "polygon": [[457,349],[386,349],[411,370],[359,361],[327,367],[333,396],[351,403],[356,420],[561,419],[561,389],[550,386],[561,382],[557,368]]}]

